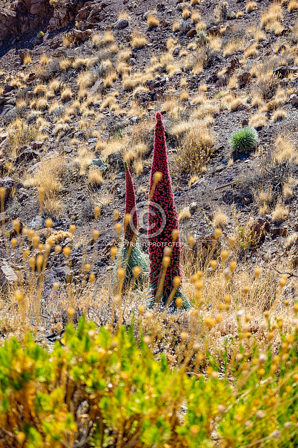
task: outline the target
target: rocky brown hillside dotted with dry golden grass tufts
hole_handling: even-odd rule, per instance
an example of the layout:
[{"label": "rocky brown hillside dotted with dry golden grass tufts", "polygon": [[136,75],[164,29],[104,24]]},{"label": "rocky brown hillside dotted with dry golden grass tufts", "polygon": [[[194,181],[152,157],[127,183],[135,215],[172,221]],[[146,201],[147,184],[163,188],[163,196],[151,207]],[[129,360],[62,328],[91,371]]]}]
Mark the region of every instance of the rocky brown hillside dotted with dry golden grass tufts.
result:
[{"label": "rocky brown hillside dotted with dry golden grass tufts", "polygon": [[[181,238],[187,250],[194,237],[195,266],[208,275],[206,260],[218,258],[232,236],[230,258],[240,273],[260,267],[294,278],[297,13],[297,2],[267,0],[3,3],[5,266],[18,219],[40,242],[51,237],[72,248],[71,264],[58,254],[47,269],[45,291],[56,280],[65,285],[70,272],[79,279],[86,257],[97,284],[106,284],[114,210],[120,222],[124,214],[123,161],[145,216],[161,111]],[[256,129],[257,145],[232,150],[232,133],[246,125]],[[184,268],[187,276],[187,262]],[[12,263],[7,269],[16,275]]]}]

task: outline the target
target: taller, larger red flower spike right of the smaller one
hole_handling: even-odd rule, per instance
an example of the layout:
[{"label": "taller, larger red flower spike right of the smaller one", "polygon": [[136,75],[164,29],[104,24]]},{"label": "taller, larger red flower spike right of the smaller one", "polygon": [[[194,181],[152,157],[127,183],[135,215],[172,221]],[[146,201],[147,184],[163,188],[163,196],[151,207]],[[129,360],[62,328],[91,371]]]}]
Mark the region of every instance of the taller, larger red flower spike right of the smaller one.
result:
[{"label": "taller, larger red flower spike right of the smaller one", "polygon": [[[150,259],[150,284],[153,296],[155,297],[158,288],[159,274],[162,269],[162,259],[164,247],[170,246],[172,243],[172,231],[178,231],[178,216],[176,212],[174,195],[172,190],[172,183],[169,174],[168,158],[166,150],[165,128],[162,122],[160,113],[156,114],[156,125],[154,135],[154,150],[153,161],[150,176],[150,189],[148,210],[148,250]],[[162,173],[161,180],[156,183],[154,181],[154,174],[156,172]],[[154,193],[151,197],[152,188]],[[165,212],[166,223],[164,229],[160,234],[152,236],[154,233],[159,233],[158,230],[162,228],[162,214],[157,207],[152,204],[158,204]],[[173,278],[178,275],[181,277],[180,270],[180,243],[179,236],[174,243],[171,253],[169,267],[167,268],[163,291],[161,294],[162,302],[165,304],[169,294],[173,289]]]}]

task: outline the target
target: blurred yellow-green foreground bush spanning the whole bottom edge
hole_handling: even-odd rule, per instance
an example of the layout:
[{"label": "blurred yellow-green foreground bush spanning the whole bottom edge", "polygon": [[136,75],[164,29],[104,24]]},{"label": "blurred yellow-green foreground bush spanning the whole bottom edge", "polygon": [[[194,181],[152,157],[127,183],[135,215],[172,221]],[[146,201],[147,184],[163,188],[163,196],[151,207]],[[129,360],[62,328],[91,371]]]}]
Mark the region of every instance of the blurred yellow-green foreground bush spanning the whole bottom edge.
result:
[{"label": "blurred yellow-green foreground bush spanning the whole bottom edge", "polygon": [[[292,447],[297,446],[297,325],[273,348],[203,359],[197,344],[180,370],[157,362],[144,336],[122,327],[112,339],[82,318],[46,351],[30,334],[0,348],[0,446],[48,447]],[[182,337],[183,343],[184,337]],[[146,343],[146,344],[145,344]],[[185,373],[196,358],[205,374]],[[227,365],[233,377],[226,377]]]}]

